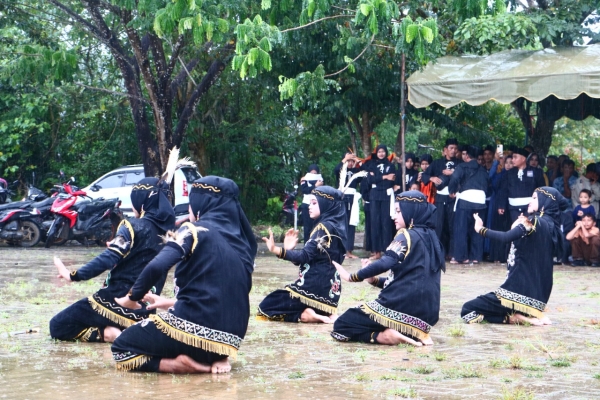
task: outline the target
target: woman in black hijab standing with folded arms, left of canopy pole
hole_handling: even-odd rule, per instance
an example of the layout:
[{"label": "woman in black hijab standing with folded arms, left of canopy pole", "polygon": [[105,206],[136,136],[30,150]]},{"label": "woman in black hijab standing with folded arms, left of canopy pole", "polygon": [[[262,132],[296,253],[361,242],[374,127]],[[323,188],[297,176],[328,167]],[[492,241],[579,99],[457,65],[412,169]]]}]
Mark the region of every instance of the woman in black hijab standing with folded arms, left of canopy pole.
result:
[{"label": "woman in black hijab standing with folded arms, left of canopy pole", "polygon": [[393,203],[396,168],[388,160],[385,145],[379,145],[376,158],[371,160],[367,181],[371,185],[371,251],[372,259],[381,258],[381,252],[394,238]]}]

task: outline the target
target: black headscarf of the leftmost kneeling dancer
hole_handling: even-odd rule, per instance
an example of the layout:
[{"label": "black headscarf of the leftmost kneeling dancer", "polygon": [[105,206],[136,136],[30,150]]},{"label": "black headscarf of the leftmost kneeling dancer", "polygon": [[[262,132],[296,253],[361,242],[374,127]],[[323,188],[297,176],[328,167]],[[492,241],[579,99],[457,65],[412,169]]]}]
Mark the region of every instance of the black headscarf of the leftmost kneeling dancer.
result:
[{"label": "black headscarf of the leftmost kneeling dancer", "polygon": [[175,227],[175,211],[167,197],[169,187],[158,178],[144,178],[131,189],[131,204],[141,218],[150,220],[166,232]]}]

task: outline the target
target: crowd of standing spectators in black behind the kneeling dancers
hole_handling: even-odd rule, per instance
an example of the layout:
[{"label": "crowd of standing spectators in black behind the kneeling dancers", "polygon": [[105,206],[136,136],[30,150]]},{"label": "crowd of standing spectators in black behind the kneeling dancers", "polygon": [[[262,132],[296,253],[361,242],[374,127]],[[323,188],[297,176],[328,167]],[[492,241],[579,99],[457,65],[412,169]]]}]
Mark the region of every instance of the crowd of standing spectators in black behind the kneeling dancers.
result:
[{"label": "crowd of standing spectators in black behind the kneeling dancers", "polygon": [[[380,145],[366,160],[346,153],[335,168],[339,180],[342,166],[348,177],[367,171],[363,179],[355,180],[345,191],[348,210],[346,257],[352,253],[358,219],[359,199],[365,214],[365,247],[371,259],[379,259],[394,235],[391,196],[400,193],[402,183],[406,190],[423,193],[436,206],[435,231],[442,241],[445,258],[451,264],[477,264],[482,261],[506,263],[509,245],[493,243],[468,227],[475,222],[474,214],[488,229],[507,230],[520,215],[527,214],[527,206],[536,188],[553,187],[566,199],[561,208],[561,231],[564,241],[556,263],[573,266],[600,266],[600,236],[596,233],[597,213],[600,211],[600,163],[589,164],[579,174],[573,160],[566,155],[548,156],[546,169],[541,157],[530,146],[471,145],[460,146],[456,139],[448,139],[442,156],[436,160],[430,154],[417,157],[406,153],[404,171],[399,157],[389,155]],[[317,165],[301,180],[303,193],[323,185]],[[339,183],[338,183],[339,186]],[[312,222],[304,213],[304,236],[309,239]]]}]

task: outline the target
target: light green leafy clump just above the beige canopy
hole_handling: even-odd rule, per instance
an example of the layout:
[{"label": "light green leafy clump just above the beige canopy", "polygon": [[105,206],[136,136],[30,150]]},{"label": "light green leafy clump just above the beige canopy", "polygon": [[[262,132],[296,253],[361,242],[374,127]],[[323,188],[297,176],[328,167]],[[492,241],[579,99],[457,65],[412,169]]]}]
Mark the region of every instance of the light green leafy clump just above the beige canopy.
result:
[{"label": "light green leafy clump just above the beige canopy", "polygon": [[533,21],[520,14],[486,15],[463,22],[454,34],[467,53],[491,54],[510,49],[540,48]]}]

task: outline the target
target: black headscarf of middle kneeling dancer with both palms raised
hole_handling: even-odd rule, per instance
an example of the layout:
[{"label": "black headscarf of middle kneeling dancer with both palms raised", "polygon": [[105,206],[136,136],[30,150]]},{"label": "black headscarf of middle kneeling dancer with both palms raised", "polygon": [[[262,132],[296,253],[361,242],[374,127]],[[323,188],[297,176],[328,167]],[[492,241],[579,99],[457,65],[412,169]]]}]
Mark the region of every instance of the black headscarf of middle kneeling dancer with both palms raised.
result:
[{"label": "black headscarf of middle kneeling dancer with both palms raised", "polygon": [[[317,199],[321,215],[315,226],[323,224],[331,235],[338,236],[342,246],[346,243],[346,208],[342,192],[331,186],[319,186],[311,192]],[[344,247],[344,253],[345,253]]]}]

